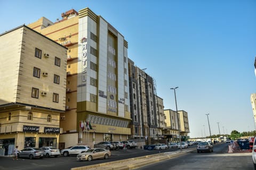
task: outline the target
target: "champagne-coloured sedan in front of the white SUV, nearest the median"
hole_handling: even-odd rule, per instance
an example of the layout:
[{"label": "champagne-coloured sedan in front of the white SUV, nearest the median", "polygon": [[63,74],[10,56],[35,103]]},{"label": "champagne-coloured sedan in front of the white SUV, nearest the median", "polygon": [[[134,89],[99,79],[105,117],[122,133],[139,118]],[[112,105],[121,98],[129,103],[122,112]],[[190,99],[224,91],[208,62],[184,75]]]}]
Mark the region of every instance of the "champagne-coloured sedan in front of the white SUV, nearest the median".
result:
[{"label": "champagne-coloured sedan in front of the white SUV, nearest the median", "polygon": [[108,159],[111,156],[110,150],[103,148],[89,149],[76,156],[77,160],[94,160],[94,159]]}]

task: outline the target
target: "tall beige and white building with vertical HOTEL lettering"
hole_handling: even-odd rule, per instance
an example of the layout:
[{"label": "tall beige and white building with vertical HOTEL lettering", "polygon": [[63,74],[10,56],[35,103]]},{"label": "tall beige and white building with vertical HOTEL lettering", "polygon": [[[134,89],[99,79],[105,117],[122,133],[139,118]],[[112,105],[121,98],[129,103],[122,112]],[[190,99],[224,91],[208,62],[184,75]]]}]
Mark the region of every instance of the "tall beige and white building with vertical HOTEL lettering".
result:
[{"label": "tall beige and white building with vertical HOTEL lettering", "polygon": [[[131,134],[127,41],[90,8],[61,16],[54,23],[42,17],[28,25],[68,47],[60,148],[127,140]],[[92,129],[82,131],[81,121],[90,122]]]}]

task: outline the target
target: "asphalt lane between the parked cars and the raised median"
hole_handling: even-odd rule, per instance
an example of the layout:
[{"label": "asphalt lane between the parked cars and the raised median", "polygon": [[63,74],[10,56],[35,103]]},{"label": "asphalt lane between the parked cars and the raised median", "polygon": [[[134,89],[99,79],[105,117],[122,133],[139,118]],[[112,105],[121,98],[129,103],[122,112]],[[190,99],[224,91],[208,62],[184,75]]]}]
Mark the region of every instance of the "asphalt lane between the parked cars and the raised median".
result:
[{"label": "asphalt lane between the parked cars and the raised median", "polygon": [[[194,146],[195,147],[195,146]],[[159,152],[174,151],[175,149],[166,149],[166,150],[143,150],[143,149],[120,149],[120,150],[111,150],[112,156],[109,159],[99,159],[93,160],[91,162],[77,162],[76,156],[69,157],[51,157],[51,158],[42,158],[42,159],[27,159],[19,158],[19,160],[12,160],[12,157],[0,157],[0,170],[70,170],[73,167],[87,166],[93,164],[100,164],[111,162],[115,160],[128,159],[134,157],[140,157],[145,155],[157,154]]]}]

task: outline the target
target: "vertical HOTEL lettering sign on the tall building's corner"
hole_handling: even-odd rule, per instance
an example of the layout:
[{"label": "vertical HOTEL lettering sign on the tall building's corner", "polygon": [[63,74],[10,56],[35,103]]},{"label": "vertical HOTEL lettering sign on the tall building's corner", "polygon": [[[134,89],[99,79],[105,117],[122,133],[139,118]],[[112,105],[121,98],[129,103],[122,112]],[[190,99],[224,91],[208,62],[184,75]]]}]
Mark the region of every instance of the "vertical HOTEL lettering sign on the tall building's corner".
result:
[{"label": "vertical HOTEL lettering sign on the tall building's corner", "polygon": [[82,84],[86,86],[86,73],[87,73],[87,39],[84,37],[81,39],[82,43]]}]

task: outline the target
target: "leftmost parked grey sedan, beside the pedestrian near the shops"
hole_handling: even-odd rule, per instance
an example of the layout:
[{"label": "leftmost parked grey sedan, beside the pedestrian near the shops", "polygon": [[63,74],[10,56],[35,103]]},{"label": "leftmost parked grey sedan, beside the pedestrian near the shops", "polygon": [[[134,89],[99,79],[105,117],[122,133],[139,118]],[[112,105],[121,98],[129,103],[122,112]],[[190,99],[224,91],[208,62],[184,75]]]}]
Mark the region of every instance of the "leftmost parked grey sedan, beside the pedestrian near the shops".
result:
[{"label": "leftmost parked grey sedan, beside the pedestrian near the shops", "polygon": [[40,148],[25,148],[19,151],[19,158],[43,158],[45,151]]}]

